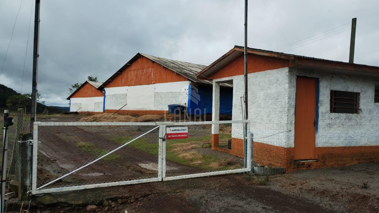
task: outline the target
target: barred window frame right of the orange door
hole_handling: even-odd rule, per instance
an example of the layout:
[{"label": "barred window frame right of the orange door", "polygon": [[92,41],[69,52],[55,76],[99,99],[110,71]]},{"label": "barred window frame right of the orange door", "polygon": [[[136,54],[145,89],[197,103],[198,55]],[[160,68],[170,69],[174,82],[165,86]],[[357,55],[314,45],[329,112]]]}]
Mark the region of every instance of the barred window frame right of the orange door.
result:
[{"label": "barred window frame right of the orange door", "polygon": [[[351,97],[336,97],[336,92],[346,92],[350,93],[354,98]],[[336,101],[335,99],[354,99],[354,102],[343,102],[341,100]],[[345,105],[345,106],[336,106],[336,104]],[[346,107],[347,104],[354,104],[354,107]],[[350,92],[350,91],[340,91],[340,90],[330,90],[330,113],[342,113],[342,114],[359,114],[359,104],[360,104],[360,92]],[[354,112],[348,111],[337,111],[338,109],[354,109]]]}]

